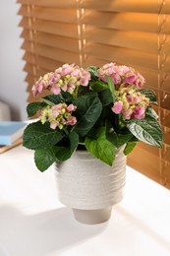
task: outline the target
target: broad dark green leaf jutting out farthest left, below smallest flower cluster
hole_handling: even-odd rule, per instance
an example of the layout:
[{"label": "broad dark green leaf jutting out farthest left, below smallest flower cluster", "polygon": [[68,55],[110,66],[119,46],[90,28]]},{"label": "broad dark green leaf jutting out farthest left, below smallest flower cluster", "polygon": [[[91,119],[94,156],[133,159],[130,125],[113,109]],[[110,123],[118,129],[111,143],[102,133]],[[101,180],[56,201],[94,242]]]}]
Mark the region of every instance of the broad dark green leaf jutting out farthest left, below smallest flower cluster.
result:
[{"label": "broad dark green leaf jutting out farthest left, below smallest flower cluster", "polygon": [[48,123],[41,124],[40,121],[27,126],[23,136],[23,145],[30,150],[45,149],[55,145],[63,138],[63,132],[52,130]]}]

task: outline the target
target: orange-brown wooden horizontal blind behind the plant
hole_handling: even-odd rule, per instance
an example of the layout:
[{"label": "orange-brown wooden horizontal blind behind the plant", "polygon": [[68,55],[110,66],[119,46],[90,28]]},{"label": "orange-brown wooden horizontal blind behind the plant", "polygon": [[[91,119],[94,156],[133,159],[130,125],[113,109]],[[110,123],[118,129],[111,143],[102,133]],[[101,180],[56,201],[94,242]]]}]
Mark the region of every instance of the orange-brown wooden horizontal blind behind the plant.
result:
[{"label": "orange-brown wooden horizontal blind behind the plant", "polygon": [[[170,187],[170,0],[19,0],[28,92],[64,63],[133,66],[158,98],[162,150],[138,144],[128,164]],[[31,94],[28,101],[32,100]]]}]

